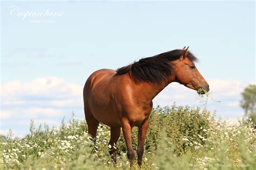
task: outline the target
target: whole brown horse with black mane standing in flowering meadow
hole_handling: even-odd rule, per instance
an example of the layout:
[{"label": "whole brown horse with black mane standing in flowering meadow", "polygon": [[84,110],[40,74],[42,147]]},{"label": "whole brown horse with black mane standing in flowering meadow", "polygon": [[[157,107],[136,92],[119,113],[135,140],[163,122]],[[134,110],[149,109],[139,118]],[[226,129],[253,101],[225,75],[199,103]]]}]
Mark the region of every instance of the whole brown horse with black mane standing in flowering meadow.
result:
[{"label": "whole brown horse with black mane standing in flowering meadow", "polygon": [[[84,86],[84,112],[89,134],[96,140],[99,122],[110,126],[110,155],[116,162],[116,148],[122,128],[127,156],[133,165],[131,130],[138,127],[138,165],[142,165],[144,141],[149,128],[152,100],[171,82],[199,90],[209,90],[208,83],[193,61],[196,56],[185,49],[140,59],[117,69],[100,69],[92,73]],[[203,90],[203,91],[204,91]],[[204,92],[200,92],[204,93]]]}]

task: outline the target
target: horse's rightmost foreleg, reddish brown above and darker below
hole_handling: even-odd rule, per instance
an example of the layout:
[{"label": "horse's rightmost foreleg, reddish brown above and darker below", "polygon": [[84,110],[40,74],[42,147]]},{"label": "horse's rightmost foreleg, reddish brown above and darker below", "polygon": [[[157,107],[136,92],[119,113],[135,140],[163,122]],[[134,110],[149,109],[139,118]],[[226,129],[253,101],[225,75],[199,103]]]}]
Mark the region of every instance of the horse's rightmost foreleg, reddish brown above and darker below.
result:
[{"label": "horse's rightmost foreleg, reddish brown above and darker below", "polygon": [[147,118],[146,121],[141,126],[139,126],[138,148],[137,148],[139,167],[142,166],[142,156],[143,156],[143,152],[144,152],[144,142],[145,142],[145,136],[146,136],[146,132],[147,132],[148,128],[149,128],[149,118]]}]

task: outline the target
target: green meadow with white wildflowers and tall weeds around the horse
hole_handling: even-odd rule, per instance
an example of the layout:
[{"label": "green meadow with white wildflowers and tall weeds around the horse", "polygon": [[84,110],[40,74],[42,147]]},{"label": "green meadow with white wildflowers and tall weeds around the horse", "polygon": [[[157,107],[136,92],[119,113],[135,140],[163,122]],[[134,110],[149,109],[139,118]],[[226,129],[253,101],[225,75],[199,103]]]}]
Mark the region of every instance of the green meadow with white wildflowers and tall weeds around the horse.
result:
[{"label": "green meadow with white wildflowers and tall weeds around the horse", "polygon": [[[216,120],[206,109],[156,108],[151,113],[142,169],[256,169],[256,140],[250,119]],[[109,155],[109,127],[100,124],[94,145],[84,119],[73,116],[58,127],[30,125],[24,138],[1,138],[0,169],[129,169],[123,136],[118,162]],[[137,128],[132,131],[137,148]],[[137,159],[137,158],[136,158]],[[134,161],[136,162],[136,160]],[[134,164],[133,169],[139,169]]]}]

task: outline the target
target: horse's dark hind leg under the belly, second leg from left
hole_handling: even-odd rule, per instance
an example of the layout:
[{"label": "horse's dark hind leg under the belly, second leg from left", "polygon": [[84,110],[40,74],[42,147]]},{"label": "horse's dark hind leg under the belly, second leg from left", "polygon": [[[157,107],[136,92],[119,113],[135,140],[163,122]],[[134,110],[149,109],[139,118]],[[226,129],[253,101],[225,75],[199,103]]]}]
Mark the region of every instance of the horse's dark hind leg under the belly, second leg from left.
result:
[{"label": "horse's dark hind leg under the belly, second leg from left", "polygon": [[110,141],[109,141],[109,145],[110,150],[109,153],[111,155],[111,159],[113,161],[113,164],[117,163],[117,157],[116,157],[116,152],[117,152],[117,140],[120,136],[120,127],[115,128],[115,127],[110,127]]}]

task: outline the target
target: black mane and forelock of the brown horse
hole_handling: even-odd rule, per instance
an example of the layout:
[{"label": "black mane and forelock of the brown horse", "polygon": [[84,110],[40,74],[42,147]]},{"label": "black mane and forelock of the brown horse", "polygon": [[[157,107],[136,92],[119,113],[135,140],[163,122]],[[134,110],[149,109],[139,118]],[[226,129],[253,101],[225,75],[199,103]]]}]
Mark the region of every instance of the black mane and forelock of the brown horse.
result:
[{"label": "black mane and forelock of the brown horse", "polygon": [[[174,49],[148,58],[140,59],[131,65],[117,69],[116,75],[129,73],[131,79],[135,82],[160,83],[168,79],[172,74],[172,64],[170,61],[178,60],[184,54],[183,49]],[[188,51],[187,58],[191,61],[198,59]]]}]

